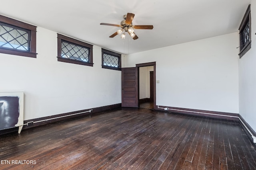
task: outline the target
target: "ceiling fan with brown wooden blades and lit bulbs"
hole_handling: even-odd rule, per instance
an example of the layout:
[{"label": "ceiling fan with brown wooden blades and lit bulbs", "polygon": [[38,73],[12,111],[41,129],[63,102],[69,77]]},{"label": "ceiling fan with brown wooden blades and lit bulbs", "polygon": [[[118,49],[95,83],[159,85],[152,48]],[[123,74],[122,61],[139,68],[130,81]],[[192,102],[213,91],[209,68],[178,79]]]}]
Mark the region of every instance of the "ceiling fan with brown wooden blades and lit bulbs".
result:
[{"label": "ceiling fan with brown wooden blades and lit bulbs", "polygon": [[116,35],[121,35],[121,38],[125,38],[125,32],[128,32],[128,34],[132,37],[132,39],[138,39],[139,37],[134,33],[134,29],[153,29],[153,25],[132,25],[132,20],[134,18],[134,14],[127,13],[127,15],[124,15],[124,20],[121,21],[120,25],[112,24],[112,23],[100,23],[100,25],[110,25],[115,27],[121,27],[121,29],[118,29],[115,33],[110,35],[110,38],[115,37]]}]

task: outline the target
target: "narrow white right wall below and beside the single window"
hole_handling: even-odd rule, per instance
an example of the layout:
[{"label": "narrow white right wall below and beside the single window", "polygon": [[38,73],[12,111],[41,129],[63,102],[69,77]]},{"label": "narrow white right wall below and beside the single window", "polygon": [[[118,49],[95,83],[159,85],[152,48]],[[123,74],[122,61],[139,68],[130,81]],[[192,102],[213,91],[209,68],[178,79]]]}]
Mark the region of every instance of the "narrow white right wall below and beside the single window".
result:
[{"label": "narrow white right wall below and beside the single window", "polygon": [[[244,11],[245,12],[245,11]],[[252,48],[239,59],[239,113],[256,131],[256,1],[251,2]]]}]

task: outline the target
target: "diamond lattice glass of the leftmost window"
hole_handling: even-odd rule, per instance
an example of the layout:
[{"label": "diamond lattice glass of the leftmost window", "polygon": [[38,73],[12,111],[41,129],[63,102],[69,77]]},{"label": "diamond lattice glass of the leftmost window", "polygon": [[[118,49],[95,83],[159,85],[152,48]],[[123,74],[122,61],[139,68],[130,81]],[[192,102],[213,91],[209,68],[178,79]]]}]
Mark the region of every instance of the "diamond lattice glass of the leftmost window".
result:
[{"label": "diamond lattice glass of the leftmost window", "polygon": [[0,23],[0,47],[28,51],[28,32]]}]

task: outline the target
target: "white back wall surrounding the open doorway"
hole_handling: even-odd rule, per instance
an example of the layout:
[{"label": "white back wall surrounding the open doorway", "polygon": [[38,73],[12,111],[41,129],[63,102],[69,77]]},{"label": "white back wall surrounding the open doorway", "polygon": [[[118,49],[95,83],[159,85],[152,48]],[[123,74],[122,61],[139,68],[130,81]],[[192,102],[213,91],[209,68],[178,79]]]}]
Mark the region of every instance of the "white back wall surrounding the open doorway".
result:
[{"label": "white back wall surrounding the open doorway", "polygon": [[156,61],[156,104],[238,113],[237,33],[126,55],[125,67]]}]

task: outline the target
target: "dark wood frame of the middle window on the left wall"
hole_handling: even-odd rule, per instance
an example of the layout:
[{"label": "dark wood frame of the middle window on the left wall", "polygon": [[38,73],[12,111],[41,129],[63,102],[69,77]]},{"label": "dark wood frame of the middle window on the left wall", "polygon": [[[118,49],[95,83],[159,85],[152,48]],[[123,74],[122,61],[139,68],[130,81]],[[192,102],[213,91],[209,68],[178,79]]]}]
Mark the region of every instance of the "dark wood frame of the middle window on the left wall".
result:
[{"label": "dark wood frame of the middle window on the left wall", "polygon": [[[93,66],[93,45],[79,41],[77,39],[67,37],[65,35],[61,35],[57,33],[57,39],[58,39],[58,61],[65,62],[65,63],[73,63],[73,64],[80,64],[80,65],[86,65],[86,66]],[[75,59],[68,59],[62,57],[62,40],[65,42],[68,42],[70,44],[74,44],[80,47],[86,47],[89,49],[89,56],[88,56],[88,62],[85,61],[78,61]]]}]

